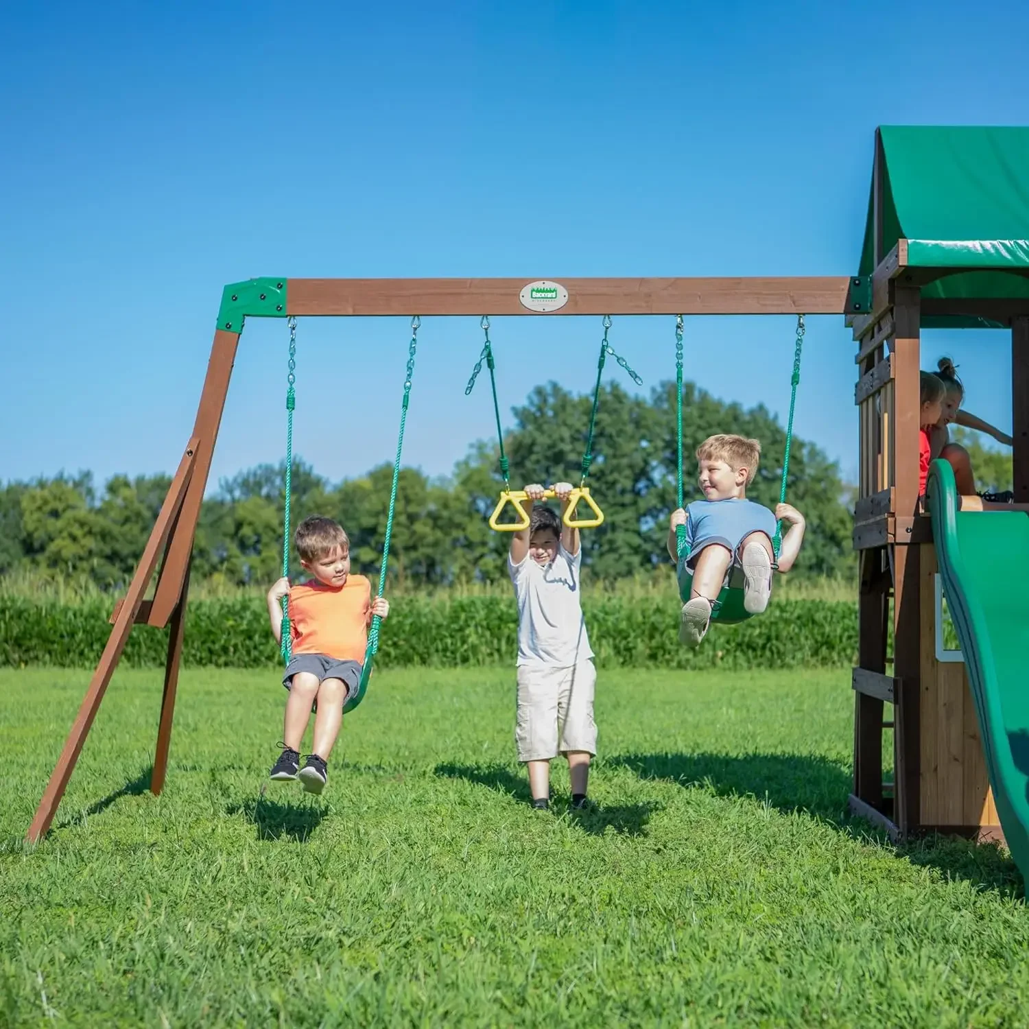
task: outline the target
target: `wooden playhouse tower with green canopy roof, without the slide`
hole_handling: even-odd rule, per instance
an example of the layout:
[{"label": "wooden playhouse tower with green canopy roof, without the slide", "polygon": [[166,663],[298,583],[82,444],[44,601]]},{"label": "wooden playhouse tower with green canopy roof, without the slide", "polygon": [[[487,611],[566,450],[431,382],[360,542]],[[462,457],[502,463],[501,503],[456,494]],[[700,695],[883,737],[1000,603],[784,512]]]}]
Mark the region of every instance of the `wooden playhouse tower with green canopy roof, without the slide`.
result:
[{"label": "wooden playhouse tower with green canopy roof, without the slide", "polygon": [[[965,666],[943,645],[932,528],[919,512],[919,342],[922,328],[1010,330],[1015,500],[1029,502],[1027,241],[1029,129],[876,133],[860,268],[872,300],[870,313],[848,319],[860,432],[850,805],[894,838],[1002,837]],[[893,751],[886,783],[884,733]]]}]

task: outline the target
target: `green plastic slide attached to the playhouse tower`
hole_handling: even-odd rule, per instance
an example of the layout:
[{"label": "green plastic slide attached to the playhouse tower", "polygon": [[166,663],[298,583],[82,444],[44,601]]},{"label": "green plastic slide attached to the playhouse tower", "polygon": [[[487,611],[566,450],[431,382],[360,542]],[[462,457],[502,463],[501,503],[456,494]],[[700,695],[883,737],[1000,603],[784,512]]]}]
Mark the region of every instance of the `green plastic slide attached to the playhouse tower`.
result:
[{"label": "green plastic slide attached to the playhouse tower", "polygon": [[1000,824],[1029,881],[1029,513],[958,510],[954,470],[929,468],[929,512]]}]

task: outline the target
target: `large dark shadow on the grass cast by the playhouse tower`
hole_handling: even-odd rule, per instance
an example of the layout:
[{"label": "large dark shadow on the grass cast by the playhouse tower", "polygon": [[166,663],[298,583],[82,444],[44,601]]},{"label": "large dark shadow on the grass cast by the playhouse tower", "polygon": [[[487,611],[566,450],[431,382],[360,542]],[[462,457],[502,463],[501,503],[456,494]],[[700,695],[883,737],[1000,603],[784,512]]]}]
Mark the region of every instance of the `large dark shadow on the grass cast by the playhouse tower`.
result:
[{"label": "large dark shadow on the grass cast by the playhouse tower", "polygon": [[640,754],[608,757],[605,765],[629,769],[641,779],[664,779],[680,786],[706,786],[718,796],[753,796],[784,814],[802,811],[835,825],[855,840],[892,846],[912,864],[936,868],[947,879],[962,879],[977,889],[1022,896],[1015,862],[996,845],[930,836],[891,844],[878,826],[850,814],[850,775],[817,754]]}]

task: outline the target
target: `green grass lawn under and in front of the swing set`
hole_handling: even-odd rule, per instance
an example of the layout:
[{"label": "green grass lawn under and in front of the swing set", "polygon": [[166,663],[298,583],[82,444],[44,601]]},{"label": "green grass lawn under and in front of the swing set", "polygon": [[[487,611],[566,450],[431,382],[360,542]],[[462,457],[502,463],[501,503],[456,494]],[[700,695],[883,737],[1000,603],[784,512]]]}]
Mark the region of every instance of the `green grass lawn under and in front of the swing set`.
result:
[{"label": "green grass lawn under and in front of the swing set", "polygon": [[0,673],[0,1025],[1024,1026],[994,848],[844,815],[846,671],[602,674],[599,810],[531,811],[512,670],[383,672],[328,792],[263,776],[274,672],[115,677],[19,839],[86,674]]}]

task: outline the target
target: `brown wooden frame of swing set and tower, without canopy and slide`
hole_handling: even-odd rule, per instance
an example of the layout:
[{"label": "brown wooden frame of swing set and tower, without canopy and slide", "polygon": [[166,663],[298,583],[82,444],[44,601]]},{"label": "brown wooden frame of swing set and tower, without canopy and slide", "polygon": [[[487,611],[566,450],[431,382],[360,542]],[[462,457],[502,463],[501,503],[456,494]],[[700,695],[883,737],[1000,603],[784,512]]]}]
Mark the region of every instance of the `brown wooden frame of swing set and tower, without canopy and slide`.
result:
[{"label": "brown wooden frame of swing set and tower, without canopy and slide", "polygon": [[[965,130],[910,130],[910,132]],[[938,159],[938,153],[935,154]],[[47,831],[132,627],[168,628],[165,685],[150,790],[159,793],[168,770],[176,686],[182,654],[189,565],[201,502],[246,318],[421,317],[432,315],[837,315],[857,341],[855,399],[860,421],[860,496],[854,545],[860,558],[860,652],[856,697],[854,792],[851,806],[896,833],[927,827],[993,830],[995,816],[974,712],[963,699],[961,666],[941,671],[923,642],[931,635],[926,576],[932,567],[931,530],[918,513],[919,333],[926,318],[991,319],[1013,327],[1015,489],[1029,501],[1029,289],[1003,295],[952,294],[941,282],[964,273],[1009,271],[1007,264],[926,263],[936,251],[900,232],[886,178],[882,136],[870,204],[871,243],[857,276],[821,278],[642,279],[286,279],[261,278],[224,288],[207,375],[192,431],[126,596],[112,614],[110,636],[81,707],[28,830]],[[926,166],[928,167],[928,166]],[[892,220],[891,220],[892,218]],[[941,239],[926,236],[924,239]],[[943,237],[943,239],[947,239]],[[958,237],[962,240],[979,236]],[[888,244],[888,245],[887,245]],[[931,253],[930,253],[931,251]],[[952,250],[961,253],[960,249]],[[914,258],[914,259],[913,259]],[[1008,275],[1029,285],[1025,273]],[[1021,287],[1020,287],[1021,288]],[[964,288],[964,293],[969,290]],[[158,569],[150,599],[144,599]],[[892,604],[891,601],[892,600]],[[931,606],[931,597],[929,598]],[[887,625],[894,634],[892,669]],[[927,620],[928,619],[928,620]],[[958,671],[954,671],[958,669]],[[946,699],[945,699],[946,698]],[[884,704],[894,706],[891,721]],[[953,734],[936,712],[964,712],[964,730],[944,769],[924,756],[941,753]],[[962,706],[963,705],[963,706]],[[971,717],[968,713],[971,712]],[[883,784],[883,733],[894,735],[893,787]],[[977,756],[978,748],[978,756]],[[892,796],[891,796],[892,794]],[[991,821],[992,819],[992,821]]]}]

